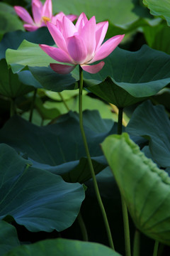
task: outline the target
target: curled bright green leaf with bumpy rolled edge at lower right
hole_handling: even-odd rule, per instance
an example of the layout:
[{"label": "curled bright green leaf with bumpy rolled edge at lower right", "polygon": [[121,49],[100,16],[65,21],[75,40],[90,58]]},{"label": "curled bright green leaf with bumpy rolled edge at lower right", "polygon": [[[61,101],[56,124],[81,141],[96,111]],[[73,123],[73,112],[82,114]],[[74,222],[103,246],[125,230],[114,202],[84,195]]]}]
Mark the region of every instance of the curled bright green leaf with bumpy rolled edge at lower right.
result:
[{"label": "curled bright green leaf with bumpy rolled edge at lower right", "polygon": [[102,149],[136,227],[170,245],[168,174],[147,159],[128,134],[107,137]]}]

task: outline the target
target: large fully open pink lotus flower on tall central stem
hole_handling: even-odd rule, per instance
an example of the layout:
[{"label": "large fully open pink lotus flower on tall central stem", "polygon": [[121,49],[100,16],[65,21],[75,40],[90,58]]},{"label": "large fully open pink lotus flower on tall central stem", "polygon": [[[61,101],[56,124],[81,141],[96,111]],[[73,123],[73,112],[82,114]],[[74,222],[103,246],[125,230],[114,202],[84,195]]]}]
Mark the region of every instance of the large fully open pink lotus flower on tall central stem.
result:
[{"label": "large fully open pink lotus flower on tall central stem", "polygon": [[124,37],[124,35],[113,36],[103,43],[108,30],[108,21],[96,23],[95,16],[88,20],[84,13],[79,16],[75,26],[69,18],[63,16],[62,21],[57,21],[56,25],[47,22],[47,28],[57,47],[41,44],[40,48],[58,62],[69,63],[69,65],[50,63],[52,70],[60,74],[70,73],[76,65],[81,65],[86,72],[98,73],[103,68],[104,62],[89,64],[106,58]]}]

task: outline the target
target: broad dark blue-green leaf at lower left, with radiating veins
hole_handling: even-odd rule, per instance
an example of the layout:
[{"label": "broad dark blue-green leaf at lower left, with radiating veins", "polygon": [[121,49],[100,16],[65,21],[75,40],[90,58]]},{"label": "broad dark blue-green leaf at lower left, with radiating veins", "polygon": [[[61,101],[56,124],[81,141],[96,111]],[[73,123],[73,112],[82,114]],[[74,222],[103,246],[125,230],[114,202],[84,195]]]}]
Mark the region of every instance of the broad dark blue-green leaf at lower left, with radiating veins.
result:
[{"label": "broad dark blue-green leaf at lower left, with radiating veins", "polygon": [[72,225],[84,200],[83,187],[31,167],[6,144],[0,151],[0,218],[11,216],[32,232],[61,231]]}]

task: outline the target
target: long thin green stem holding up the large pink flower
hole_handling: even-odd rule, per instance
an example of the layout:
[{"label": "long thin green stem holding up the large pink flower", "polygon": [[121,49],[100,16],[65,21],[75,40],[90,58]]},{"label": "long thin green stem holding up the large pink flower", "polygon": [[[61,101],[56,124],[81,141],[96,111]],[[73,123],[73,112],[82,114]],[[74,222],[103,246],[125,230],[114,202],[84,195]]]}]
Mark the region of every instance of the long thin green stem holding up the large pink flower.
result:
[{"label": "long thin green stem holding up the large pink flower", "polygon": [[82,92],[83,92],[83,70],[82,70],[81,66],[79,65],[79,126],[80,126],[80,130],[81,130],[81,136],[82,136],[82,139],[83,139],[83,142],[84,142],[84,147],[85,147],[85,150],[86,150],[86,156],[87,156],[87,159],[88,159],[88,162],[89,162],[89,169],[91,171],[91,177],[92,177],[93,182],[94,182],[94,190],[95,190],[95,193],[96,193],[96,198],[98,200],[98,205],[101,208],[103,221],[104,221],[105,226],[106,226],[106,232],[107,232],[107,235],[108,235],[109,245],[113,250],[115,250],[114,245],[113,245],[112,235],[111,235],[111,229],[110,229],[109,224],[108,224],[108,218],[107,218],[107,215],[106,215],[106,210],[105,210],[105,208],[103,206],[103,202],[101,200],[101,195],[100,195],[100,192],[99,192],[99,189],[98,189],[98,183],[96,181],[96,176],[95,176],[95,172],[94,172],[94,166],[93,166],[92,161],[91,161],[91,156],[90,156],[90,153],[89,153],[89,146],[87,144],[86,135],[85,135],[85,132],[84,132],[83,111],[82,111]]}]

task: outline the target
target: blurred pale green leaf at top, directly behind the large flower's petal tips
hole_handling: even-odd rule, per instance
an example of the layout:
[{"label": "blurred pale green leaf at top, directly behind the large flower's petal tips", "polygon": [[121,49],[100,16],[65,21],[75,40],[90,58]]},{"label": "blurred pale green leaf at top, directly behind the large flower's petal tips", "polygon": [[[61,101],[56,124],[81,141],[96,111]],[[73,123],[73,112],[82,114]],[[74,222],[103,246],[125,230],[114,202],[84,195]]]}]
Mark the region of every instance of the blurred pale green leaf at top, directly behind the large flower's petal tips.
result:
[{"label": "blurred pale green leaf at top, directly behind the large flower's petal tips", "polygon": [[107,38],[133,31],[150,21],[149,12],[136,0],[122,0],[122,4],[118,0],[73,0],[72,4],[59,0],[53,1],[53,10],[76,15],[84,12],[89,18],[95,16],[97,22],[109,21]]}]

